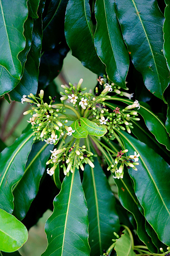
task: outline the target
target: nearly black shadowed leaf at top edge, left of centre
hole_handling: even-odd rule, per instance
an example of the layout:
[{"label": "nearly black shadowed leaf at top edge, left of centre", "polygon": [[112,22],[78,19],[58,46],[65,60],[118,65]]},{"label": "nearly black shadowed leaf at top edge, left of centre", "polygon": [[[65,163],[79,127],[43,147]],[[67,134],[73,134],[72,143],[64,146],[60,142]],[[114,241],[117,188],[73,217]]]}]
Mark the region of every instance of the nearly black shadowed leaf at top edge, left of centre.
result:
[{"label": "nearly black shadowed leaf at top edge, left of centre", "polygon": [[54,49],[65,38],[64,18],[67,3],[68,0],[50,1],[47,15],[43,20],[43,51]]}]

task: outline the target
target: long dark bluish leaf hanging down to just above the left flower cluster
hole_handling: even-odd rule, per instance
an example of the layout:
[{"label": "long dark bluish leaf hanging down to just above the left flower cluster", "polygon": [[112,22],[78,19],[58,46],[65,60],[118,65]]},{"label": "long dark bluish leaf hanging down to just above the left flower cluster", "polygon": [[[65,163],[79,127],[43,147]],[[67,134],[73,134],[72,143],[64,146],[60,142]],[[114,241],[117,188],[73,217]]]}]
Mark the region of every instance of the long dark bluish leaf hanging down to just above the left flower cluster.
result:
[{"label": "long dark bluish leaf hanging down to just above the left flower cluster", "polygon": [[40,65],[40,54],[42,47],[42,18],[34,19],[32,31],[31,49],[27,55],[24,74],[20,83],[10,92],[12,100],[20,101],[22,96],[30,93],[36,94],[38,87],[38,75]]}]

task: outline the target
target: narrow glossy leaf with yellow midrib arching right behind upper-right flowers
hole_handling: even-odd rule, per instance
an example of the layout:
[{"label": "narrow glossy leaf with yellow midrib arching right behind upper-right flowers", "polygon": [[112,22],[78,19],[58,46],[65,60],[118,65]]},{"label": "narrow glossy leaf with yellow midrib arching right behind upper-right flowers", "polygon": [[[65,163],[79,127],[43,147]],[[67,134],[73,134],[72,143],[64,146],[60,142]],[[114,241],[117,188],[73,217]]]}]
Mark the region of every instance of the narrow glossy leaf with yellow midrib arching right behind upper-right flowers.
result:
[{"label": "narrow glossy leaf with yellow midrib arching right behind upper-right flowers", "polygon": [[[132,100],[126,100],[123,98],[112,97],[110,100],[118,100],[122,101],[128,105],[131,105],[133,102]],[[112,108],[112,103],[106,102],[106,105]],[[139,114],[144,118],[146,126],[154,134],[156,140],[159,143],[166,146],[168,150],[170,150],[170,138],[168,133],[166,132],[165,124],[160,120],[156,114],[154,114],[147,103],[140,102],[140,109],[137,110]]]}]

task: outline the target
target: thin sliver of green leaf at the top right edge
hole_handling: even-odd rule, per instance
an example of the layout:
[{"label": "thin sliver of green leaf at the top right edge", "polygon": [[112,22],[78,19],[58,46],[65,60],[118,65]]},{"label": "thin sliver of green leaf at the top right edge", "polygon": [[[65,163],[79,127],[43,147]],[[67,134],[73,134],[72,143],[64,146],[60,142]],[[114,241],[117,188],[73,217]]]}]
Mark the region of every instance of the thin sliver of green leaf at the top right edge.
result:
[{"label": "thin sliver of green leaf at the top right edge", "polygon": [[170,70],[170,29],[169,29],[169,22],[170,22],[170,0],[165,0],[166,8],[165,8],[165,21],[163,26],[164,32],[164,56],[166,57],[166,63],[168,65],[168,69]]}]

